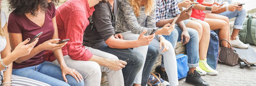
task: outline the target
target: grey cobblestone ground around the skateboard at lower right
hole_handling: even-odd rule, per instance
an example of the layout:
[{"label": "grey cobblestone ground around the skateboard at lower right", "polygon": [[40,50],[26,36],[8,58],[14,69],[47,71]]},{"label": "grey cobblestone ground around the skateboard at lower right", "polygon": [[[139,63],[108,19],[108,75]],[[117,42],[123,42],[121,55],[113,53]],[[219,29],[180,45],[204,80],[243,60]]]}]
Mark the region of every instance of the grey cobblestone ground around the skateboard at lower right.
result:
[{"label": "grey cobblestone ground around the skateboard at lower right", "polygon": [[[256,51],[256,46],[252,47]],[[256,86],[256,67],[239,68],[238,65],[231,67],[218,63],[216,70],[219,71],[218,75],[202,75],[210,86]],[[179,86],[193,86],[185,80],[179,80]]]}]

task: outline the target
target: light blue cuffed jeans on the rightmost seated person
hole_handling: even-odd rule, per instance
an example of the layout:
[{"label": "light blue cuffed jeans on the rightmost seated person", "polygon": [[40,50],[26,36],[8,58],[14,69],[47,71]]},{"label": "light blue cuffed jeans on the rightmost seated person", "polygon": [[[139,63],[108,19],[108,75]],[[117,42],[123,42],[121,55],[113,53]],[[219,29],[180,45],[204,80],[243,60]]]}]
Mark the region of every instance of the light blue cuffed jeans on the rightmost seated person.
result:
[{"label": "light blue cuffed jeans on the rightmost seated person", "polygon": [[244,19],[246,17],[246,10],[243,9],[242,11],[225,11],[220,13],[219,15],[223,15],[230,18],[235,18],[235,23],[234,23],[234,29],[243,29],[243,24],[244,24]]}]

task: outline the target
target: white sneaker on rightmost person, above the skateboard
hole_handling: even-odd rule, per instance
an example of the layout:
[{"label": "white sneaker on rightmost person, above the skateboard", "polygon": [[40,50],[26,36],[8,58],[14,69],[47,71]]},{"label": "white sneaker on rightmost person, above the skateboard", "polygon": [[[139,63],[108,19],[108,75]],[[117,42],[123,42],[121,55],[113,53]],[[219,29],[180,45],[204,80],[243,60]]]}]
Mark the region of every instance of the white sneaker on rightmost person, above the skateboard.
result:
[{"label": "white sneaker on rightmost person, above the skateboard", "polygon": [[247,49],[249,47],[248,45],[240,41],[238,36],[236,36],[236,40],[230,40],[230,43],[233,47],[237,48]]}]

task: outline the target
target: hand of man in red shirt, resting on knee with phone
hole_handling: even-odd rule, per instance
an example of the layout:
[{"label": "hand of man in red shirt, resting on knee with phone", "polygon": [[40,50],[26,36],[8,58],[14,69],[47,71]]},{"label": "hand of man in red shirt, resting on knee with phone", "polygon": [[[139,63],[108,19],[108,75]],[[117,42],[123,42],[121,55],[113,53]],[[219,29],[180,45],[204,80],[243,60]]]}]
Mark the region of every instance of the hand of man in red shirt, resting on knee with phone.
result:
[{"label": "hand of man in red shirt, resting on knee with phone", "polygon": [[108,68],[118,71],[119,69],[123,69],[127,65],[127,62],[116,59],[109,59]]}]

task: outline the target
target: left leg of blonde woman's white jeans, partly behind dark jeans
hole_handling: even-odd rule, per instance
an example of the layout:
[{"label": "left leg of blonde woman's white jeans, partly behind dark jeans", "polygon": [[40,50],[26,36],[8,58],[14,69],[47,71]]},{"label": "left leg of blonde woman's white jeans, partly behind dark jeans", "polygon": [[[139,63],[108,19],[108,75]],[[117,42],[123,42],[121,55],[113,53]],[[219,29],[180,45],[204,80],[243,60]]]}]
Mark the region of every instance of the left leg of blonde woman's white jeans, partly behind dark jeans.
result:
[{"label": "left leg of blonde woman's white jeans, partly behind dark jeans", "polygon": [[[140,34],[131,34],[131,31],[128,32],[123,32],[121,33],[124,37],[124,40],[136,40],[139,38]],[[134,82],[136,84],[141,84],[141,79],[142,79],[142,72],[143,72],[143,67],[146,61],[146,56],[147,56],[147,52],[148,52],[148,46],[140,46],[140,47],[134,47],[133,48],[134,51],[140,52],[143,55],[143,65],[140,69],[140,71],[138,72],[138,74],[136,75]]]}]

